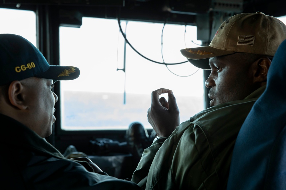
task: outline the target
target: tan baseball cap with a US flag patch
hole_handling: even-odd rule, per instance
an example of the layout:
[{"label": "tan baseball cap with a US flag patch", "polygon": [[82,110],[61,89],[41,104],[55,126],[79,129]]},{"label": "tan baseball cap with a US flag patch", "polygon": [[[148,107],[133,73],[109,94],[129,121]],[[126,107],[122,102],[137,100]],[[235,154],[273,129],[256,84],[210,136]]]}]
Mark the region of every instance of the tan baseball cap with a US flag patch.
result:
[{"label": "tan baseball cap with a US flag patch", "polygon": [[210,57],[244,52],[274,56],[286,39],[286,26],[279,19],[261,12],[241,13],[224,21],[209,46],[181,50],[189,62],[210,69]]}]

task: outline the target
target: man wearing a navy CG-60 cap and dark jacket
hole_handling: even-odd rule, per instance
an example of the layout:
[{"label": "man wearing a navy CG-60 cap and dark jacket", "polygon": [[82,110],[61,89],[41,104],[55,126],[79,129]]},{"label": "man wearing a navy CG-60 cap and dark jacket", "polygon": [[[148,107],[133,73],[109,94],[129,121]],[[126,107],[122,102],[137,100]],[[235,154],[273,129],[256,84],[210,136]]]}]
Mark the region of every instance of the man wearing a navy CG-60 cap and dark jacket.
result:
[{"label": "man wearing a navy CG-60 cap and dark jacket", "polygon": [[108,176],[88,158],[65,159],[44,138],[55,122],[55,80],[80,70],[50,66],[25,38],[0,34],[1,184],[9,189],[141,189]]}]

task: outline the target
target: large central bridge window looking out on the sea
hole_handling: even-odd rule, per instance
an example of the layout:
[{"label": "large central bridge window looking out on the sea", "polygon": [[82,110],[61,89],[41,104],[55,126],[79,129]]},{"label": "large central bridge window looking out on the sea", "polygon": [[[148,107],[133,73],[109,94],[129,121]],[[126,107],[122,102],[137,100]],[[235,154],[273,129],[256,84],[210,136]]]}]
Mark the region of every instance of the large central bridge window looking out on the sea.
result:
[{"label": "large central bridge window looking out on the sea", "polygon": [[[160,63],[185,62],[180,49],[201,44],[196,26],[120,26],[136,51]],[[159,88],[173,91],[181,122],[204,109],[203,71],[189,62],[166,66],[143,58],[125,43],[116,19],[83,17],[80,28],[60,26],[59,35],[60,65],[80,68],[78,79],[60,81],[63,130],[126,130],[135,121],[152,128],[147,110]]]}]

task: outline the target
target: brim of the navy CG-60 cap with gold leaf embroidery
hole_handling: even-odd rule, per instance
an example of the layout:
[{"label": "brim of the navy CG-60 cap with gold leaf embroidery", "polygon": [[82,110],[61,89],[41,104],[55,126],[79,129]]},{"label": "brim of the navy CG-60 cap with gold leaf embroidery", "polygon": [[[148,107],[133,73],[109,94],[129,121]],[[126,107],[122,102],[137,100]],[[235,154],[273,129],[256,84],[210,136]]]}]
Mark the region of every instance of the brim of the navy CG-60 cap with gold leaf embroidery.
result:
[{"label": "brim of the navy CG-60 cap with gold leaf embroidery", "polygon": [[52,80],[73,80],[78,78],[79,75],[80,70],[77,67],[51,65],[47,71],[38,73],[35,77]]}]

